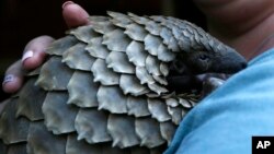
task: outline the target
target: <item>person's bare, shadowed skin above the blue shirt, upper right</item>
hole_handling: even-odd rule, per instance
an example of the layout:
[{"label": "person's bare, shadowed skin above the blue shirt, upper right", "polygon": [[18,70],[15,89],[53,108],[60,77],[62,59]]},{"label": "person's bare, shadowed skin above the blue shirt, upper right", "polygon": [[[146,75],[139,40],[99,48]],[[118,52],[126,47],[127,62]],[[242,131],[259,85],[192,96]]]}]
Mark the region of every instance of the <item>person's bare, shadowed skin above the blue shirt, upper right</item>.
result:
[{"label": "person's bare, shadowed skin above the blue shirt, upper right", "polygon": [[248,60],[274,46],[273,0],[194,0],[208,31]]}]

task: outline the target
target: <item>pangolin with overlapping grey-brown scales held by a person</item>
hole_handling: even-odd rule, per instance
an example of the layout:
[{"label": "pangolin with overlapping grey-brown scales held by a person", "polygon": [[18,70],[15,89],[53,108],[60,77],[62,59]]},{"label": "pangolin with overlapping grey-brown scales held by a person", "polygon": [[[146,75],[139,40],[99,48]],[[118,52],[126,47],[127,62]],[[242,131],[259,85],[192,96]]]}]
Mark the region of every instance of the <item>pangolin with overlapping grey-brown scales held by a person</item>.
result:
[{"label": "pangolin with overlapping grey-brown scales held by a person", "polygon": [[55,40],[47,61],[4,102],[1,154],[162,153],[198,100],[180,76],[246,67],[187,21],[107,14]]}]

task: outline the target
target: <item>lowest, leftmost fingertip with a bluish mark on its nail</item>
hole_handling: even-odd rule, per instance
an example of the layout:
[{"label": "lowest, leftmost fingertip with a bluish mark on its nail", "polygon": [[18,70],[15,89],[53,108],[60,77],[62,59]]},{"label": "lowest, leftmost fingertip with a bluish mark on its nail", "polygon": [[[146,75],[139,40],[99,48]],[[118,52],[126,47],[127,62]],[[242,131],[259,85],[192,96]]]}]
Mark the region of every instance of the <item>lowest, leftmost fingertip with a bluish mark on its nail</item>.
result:
[{"label": "lowest, leftmost fingertip with a bluish mark on its nail", "polygon": [[21,61],[13,63],[5,72],[2,88],[5,93],[15,93],[23,83],[24,70]]}]

